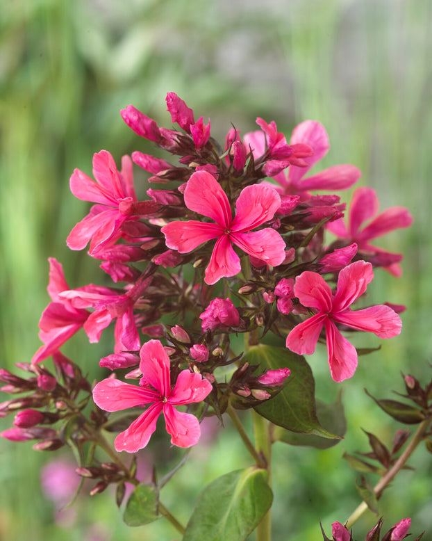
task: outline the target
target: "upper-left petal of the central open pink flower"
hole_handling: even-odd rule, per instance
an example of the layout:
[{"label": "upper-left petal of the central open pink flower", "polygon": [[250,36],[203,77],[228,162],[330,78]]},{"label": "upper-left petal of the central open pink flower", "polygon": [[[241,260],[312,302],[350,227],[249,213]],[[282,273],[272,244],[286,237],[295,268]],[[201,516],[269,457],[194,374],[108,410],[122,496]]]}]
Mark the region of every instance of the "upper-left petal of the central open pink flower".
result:
[{"label": "upper-left petal of the central open pink flower", "polygon": [[228,197],[215,177],[207,171],[196,171],[191,175],[185,188],[185,204],[191,211],[208,216],[224,228],[231,224]]}]

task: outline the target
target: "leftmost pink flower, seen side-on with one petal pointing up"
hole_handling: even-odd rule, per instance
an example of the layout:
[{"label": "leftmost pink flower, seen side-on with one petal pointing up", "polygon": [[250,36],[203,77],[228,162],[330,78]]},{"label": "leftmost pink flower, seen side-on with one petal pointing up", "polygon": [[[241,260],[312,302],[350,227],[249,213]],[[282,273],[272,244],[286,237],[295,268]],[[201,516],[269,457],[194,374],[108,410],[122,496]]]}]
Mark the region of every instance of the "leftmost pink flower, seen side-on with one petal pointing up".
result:
[{"label": "leftmost pink flower, seen side-on with one petal pointing up", "polygon": [[72,302],[60,297],[60,293],[67,291],[69,286],[63,274],[63,267],[53,257],[49,261],[48,293],[53,302],[42,312],[39,321],[39,337],[44,343],[33,355],[32,364],[47,359],[56,353],[69,338],[83,327],[90,316],[90,312],[75,308]]}]

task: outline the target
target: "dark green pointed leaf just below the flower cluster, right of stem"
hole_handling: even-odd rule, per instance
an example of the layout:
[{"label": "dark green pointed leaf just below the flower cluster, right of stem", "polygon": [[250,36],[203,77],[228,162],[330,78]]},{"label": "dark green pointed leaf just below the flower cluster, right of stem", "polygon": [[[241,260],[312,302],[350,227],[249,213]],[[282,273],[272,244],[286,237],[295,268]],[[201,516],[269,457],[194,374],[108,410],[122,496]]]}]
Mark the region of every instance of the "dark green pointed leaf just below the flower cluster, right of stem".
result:
[{"label": "dark green pointed leaf just below the flower cluster, right of stem", "polygon": [[315,381],[304,357],[285,348],[260,344],[253,346],[244,356],[249,364],[259,364],[263,370],[288,367],[291,371],[280,393],[255,407],[255,410],[272,423],[292,432],[315,434],[340,439],[322,428],[315,407]]}]

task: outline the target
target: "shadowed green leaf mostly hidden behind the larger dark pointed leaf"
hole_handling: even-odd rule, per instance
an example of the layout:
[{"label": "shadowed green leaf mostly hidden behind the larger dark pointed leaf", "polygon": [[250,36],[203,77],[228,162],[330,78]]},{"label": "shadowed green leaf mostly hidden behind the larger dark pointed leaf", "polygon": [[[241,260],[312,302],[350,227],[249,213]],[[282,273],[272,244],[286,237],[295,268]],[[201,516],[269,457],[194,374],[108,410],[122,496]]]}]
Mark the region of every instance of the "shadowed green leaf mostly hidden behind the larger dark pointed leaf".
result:
[{"label": "shadowed green leaf mostly hidden behind the larger dark pointed leaf", "polygon": [[[342,396],[339,394],[336,401],[332,404],[324,404],[324,402],[317,401],[317,418],[323,428],[343,439],[344,433],[347,431],[347,420],[344,416],[344,407],[341,398]],[[290,445],[315,447],[315,449],[329,449],[329,447],[333,447],[340,442],[340,439],[329,439],[313,434],[294,433],[280,426],[274,428],[273,439]]]}]

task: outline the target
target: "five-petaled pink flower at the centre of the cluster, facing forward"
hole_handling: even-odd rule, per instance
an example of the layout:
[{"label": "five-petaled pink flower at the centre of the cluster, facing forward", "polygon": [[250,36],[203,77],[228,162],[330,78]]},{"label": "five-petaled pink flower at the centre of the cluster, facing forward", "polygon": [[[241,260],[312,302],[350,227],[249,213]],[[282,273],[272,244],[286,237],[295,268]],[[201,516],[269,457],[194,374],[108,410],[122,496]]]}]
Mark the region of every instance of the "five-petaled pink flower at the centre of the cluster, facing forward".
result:
[{"label": "five-petaled pink flower at the centre of the cluster, facing forward", "polygon": [[231,243],[244,252],[258,257],[268,265],[280,265],[285,259],[285,241],[274,229],[251,229],[271,220],[281,205],[281,198],[273,188],[247,186],[235,202],[236,215],[232,218],[228,197],[215,177],[206,171],[194,172],[185,188],[188,209],[208,216],[216,223],[197,220],[171,222],[162,228],[168,248],[184,254],[200,244],[217,239],[205,281],[215,284],[222,277],[240,273],[240,257]]}]

